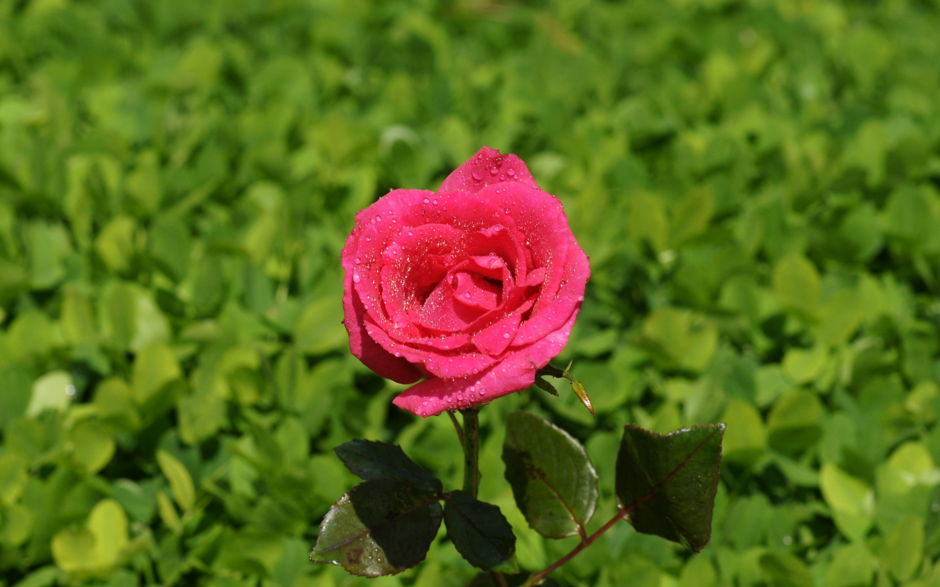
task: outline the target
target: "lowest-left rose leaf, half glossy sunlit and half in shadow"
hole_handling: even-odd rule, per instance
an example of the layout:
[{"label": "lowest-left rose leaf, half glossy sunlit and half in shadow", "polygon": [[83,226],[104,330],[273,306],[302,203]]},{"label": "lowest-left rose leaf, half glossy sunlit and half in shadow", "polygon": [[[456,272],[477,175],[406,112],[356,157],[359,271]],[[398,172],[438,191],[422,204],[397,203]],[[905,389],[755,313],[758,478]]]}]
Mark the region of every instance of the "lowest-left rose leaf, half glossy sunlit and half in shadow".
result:
[{"label": "lowest-left rose leaf, half glossy sunlit and half in shadow", "polygon": [[395,575],[424,560],[441,525],[438,496],[404,479],[352,488],[323,517],[310,560],[353,575]]}]

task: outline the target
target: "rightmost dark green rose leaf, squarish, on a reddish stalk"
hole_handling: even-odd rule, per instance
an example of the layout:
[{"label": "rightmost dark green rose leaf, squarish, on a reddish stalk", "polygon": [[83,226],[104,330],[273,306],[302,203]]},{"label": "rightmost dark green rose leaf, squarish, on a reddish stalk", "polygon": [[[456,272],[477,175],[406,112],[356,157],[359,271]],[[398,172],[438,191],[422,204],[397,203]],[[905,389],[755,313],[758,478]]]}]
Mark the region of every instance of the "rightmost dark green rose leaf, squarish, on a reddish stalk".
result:
[{"label": "rightmost dark green rose leaf, squarish, on a reddish stalk", "polygon": [[656,434],[626,425],[617,456],[617,498],[637,532],[696,552],[712,535],[712,510],[725,425]]}]

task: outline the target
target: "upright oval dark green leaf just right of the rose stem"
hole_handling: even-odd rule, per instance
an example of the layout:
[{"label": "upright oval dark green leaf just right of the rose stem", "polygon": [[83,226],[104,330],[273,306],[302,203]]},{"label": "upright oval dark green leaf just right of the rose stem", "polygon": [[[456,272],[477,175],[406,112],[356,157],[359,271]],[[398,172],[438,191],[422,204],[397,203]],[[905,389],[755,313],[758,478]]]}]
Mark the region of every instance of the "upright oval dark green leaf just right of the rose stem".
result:
[{"label": "upright oval dark green leaf just right of the rose stem", "polygon": [[597,506],[597,472],[577,440],[539,416],[517,411],[507,421],[503,461],[529,526],[549,538],[584,534]]}]

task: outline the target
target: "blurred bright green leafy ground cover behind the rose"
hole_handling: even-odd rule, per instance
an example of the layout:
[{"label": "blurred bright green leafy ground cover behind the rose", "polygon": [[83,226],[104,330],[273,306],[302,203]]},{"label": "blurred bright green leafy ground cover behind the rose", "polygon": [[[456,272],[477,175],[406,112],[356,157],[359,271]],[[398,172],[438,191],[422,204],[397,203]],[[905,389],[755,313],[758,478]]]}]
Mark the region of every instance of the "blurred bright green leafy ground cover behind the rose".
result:
[{"label": "blurred bright green leafy ground cover behind the rose", "polygon": [[[483,410],[480,497],[541,568],[502,423],[726,422],[712,544],[626,524],[556,573],[632,587],[937,585],[940,2],[0,2],[0,586],[358,585],[306,554],[445,417],[350,356],[357,209],[478,147],[566,205],[593,275],[559,364]],[[70,388],[68,386],[73,386]],[[65,393],[73,390],[74,394]],[[372,585],[459,585],[443,537]]]}]

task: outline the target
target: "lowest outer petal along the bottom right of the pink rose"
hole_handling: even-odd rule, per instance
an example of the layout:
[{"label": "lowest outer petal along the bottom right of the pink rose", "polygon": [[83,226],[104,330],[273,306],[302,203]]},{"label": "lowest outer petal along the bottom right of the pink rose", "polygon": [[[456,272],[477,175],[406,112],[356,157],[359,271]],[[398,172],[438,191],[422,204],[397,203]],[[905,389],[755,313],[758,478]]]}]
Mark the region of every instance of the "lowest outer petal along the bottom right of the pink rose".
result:
[{"label": "lowest outer petal along the bottom right of the pink rose", "polygon": [[536,372],[557,356],[568,342],[577,310],[565,324],[529,347],[520,348],[504,361],[467,378],[429,378],[398,394],[392,403],[423,418],[445,409],[466,409],[486,404],[535,382]]}]

